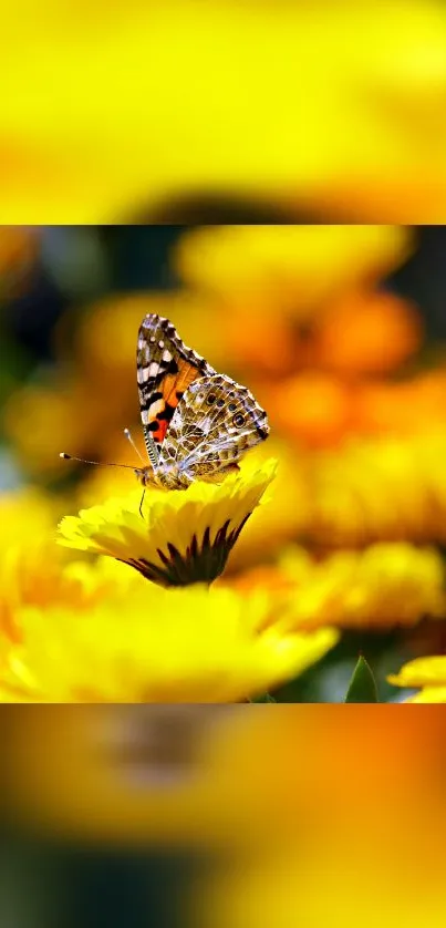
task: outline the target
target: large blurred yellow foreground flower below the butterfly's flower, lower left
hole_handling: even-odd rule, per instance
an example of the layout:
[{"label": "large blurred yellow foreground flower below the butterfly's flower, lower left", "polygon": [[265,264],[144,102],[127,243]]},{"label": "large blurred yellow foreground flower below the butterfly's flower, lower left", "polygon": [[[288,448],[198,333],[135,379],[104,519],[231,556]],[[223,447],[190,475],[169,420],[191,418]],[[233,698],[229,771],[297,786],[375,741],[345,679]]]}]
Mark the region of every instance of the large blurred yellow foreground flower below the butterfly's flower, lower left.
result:
[{"label": "large blurred yellow foreground flower below the butterfly's flower, lower left", "polygon": [[3,702],[238,702],[295,677],[338,640],[287,633],[273,599],[232,590],[164,590],[18,611],[21,642],[0,659]]}]

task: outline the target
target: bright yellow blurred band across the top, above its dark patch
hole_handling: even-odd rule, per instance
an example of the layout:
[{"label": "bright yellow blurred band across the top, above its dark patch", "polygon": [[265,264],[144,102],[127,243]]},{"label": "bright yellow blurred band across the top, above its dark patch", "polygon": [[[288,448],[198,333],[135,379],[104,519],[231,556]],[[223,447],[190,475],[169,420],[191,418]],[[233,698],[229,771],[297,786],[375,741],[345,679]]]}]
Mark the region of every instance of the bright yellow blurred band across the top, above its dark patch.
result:
[{"label": "bright yellow blurred band across the top, above its dark patch", "polygon": [[438,0],[19,0],[0,44],[2,223],[215,193],[341,221],[445,215]]}]

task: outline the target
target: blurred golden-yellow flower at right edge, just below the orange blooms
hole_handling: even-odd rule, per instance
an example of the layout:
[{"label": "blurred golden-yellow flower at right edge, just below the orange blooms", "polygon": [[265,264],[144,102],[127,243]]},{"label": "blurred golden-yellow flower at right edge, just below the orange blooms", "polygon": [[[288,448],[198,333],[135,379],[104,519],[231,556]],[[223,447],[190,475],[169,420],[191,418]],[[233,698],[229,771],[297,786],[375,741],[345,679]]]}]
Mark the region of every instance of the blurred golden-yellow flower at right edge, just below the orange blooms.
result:
[{"label": "blurred golden-yellow flower at right edge, just below the orange blooms", "polygon": [[446,540],[446,433],[355,441],[314,454],[308,536],[322,547]]}]

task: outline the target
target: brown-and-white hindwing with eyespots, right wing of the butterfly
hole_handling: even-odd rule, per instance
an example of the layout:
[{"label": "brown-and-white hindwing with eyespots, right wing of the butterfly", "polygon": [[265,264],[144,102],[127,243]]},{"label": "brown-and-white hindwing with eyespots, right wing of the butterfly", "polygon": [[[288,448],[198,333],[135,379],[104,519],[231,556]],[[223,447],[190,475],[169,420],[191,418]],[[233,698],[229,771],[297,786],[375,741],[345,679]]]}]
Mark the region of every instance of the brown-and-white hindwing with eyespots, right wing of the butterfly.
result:
[{"label": "brown-and-white hindwing with eyespots, right wing of the butterfly", "polygon": [[268,435],[267,413],[252,393],[225,374],[207,374],[178,403],[160,462],[180,463],[194,480],[218,482]]}]

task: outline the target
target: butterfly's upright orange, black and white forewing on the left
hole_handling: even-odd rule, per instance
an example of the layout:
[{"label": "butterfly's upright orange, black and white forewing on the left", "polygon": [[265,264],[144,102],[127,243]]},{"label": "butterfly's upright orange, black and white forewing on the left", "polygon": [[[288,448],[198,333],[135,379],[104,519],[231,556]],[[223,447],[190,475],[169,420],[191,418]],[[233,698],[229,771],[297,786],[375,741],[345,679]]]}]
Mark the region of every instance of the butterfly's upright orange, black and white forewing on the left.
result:
[{"label": "butterfly's upright orange, black and white forewing on the left", "polygon": [[168,319],[149,313],[138,333],[137,380],[146,444],[149,436],[159,451],[183,394],[198,377],[214,368],[187,348]]}]

